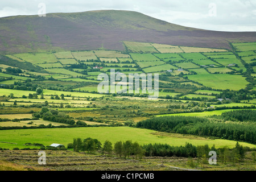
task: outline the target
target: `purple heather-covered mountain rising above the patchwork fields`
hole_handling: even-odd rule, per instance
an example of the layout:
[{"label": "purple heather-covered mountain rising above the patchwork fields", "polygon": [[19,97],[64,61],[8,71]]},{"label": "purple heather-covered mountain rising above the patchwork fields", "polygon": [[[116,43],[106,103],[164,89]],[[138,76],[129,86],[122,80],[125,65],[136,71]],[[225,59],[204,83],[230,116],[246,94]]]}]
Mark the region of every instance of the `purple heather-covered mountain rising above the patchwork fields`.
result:
[{"label": "purple heather-covered mountain rising above the patchwork fields", "polygon": [[229,49],[229,42],[256,42],[256,32],[200,30],[134,11],[52,13],[0,18],[0,52],[114,49],[123,41]]}]

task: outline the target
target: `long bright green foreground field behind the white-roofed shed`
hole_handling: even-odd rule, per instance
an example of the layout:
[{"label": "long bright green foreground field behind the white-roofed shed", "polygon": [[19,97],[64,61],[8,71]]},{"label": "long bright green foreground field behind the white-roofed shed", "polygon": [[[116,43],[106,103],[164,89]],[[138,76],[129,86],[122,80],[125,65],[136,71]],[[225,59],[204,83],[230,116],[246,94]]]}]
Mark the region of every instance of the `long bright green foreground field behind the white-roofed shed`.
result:
[{"label": "long bright green foreground field behind the white-roofed shed", "polygon": [[[105,140],[109,140],[112,143],[119,140],[126,141],[132,140],[139,144],[148,143],[167,143],[171,146],[184,146],[186,142],[193,145],[209,144],[216,147],[228,146],[234,147],[236,141],[223,140],[223,139],[207,139],[203,137],[195,137],[191,135],[170,134],[167,136],[161,136],[159,133],[153,130],[137,129],[131,127],[85,127],[85,128],[71,128],[71,129],[26,129],[26,130],[3,130],[0,133],[2,142],[0,143],[2,148],[24,148],[23,144],[27,142],[42,143],[45,146],[52,143],[60,143],[67,146],[68,143],[73,142],[73,138],[96,138],[104,143]],[[243,143],[243,146],[255,147],[253,144]]]}]

